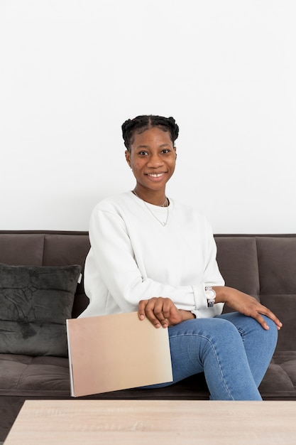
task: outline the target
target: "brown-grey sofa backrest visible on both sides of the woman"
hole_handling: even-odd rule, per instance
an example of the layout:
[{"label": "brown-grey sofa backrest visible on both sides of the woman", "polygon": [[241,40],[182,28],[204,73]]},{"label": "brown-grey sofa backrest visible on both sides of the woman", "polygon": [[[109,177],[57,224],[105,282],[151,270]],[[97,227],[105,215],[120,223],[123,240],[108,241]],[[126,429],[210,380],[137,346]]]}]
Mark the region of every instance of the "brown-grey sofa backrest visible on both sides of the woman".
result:
[{"label": "brown-grey sofa backrest visible on both sides of the woman", "polygon": [[[215,235],[226,286],[255,296],[283,322],[278,349],[296,349],[296,235]],[[87,232],[0,231],[0,263],[33,266],[80,264],[89,251]],[[72,316],[88,304],[83,279]],[[225,308],[225,311],[229,309]]]}]

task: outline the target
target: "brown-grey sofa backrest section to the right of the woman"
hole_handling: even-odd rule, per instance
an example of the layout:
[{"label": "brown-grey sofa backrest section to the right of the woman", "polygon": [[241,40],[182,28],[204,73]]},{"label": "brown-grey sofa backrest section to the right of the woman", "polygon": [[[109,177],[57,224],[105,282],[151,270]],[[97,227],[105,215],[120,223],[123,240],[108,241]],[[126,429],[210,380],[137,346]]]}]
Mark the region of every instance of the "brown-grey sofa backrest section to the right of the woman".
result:
[{"label": "brown-grey sofa backrest section to the right of the woman", "polygon": [[277,349],[296,350],[296,235],[215,235],[215,240],[226,286],[273,311],[283,323]]}]

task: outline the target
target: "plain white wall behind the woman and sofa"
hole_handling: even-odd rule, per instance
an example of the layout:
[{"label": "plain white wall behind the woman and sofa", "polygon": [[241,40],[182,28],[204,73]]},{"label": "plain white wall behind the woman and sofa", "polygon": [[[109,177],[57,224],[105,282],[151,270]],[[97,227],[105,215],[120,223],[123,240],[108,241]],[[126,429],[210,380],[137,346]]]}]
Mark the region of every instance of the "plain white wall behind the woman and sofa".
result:
[{"label": "plain white wall behind the woman and sofa", "polygon": [[133,188],[121,124],[180,125],[168,195],[296,232],[294,0],[0,0],[0,229],[87,230]]}]

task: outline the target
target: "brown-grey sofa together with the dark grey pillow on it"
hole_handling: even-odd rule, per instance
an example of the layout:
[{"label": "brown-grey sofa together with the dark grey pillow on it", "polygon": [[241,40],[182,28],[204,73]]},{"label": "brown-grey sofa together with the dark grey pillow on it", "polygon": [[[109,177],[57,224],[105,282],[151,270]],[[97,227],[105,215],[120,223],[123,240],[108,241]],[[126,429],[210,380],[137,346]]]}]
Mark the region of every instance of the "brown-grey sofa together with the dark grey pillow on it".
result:
[{"label": "brown-grey sofa together with the dark grey pillow on it", "polygon": [[[215,240],[226,285],[255,296],[283,322],[259,387],[263,400],[296,400],[296,235],[215,235]],[[0,441],[25,400],[72,399],[75,403],[70,397],[65,319],[79,316],[88,304],[83,286],[88,251],[87,232],[0,231]],[[55,272],[62,275],[55,276],[53,283]],[[33,281],[24,291],[28,277]],[[38,290],[39,296],[34,292],[41,282],[47,287]],[[67,289],[65,282],[70,282]],[[9,294],[11,289],[14,294]],[[30,310],[25,308],[28,299],[33,299]],[[57,301],[58,306],[44,306],[43,299],[47,305]],[[14,318],[7,321],[11,314]],[[204,375],[199,374],[165,388],[81,398],[208,400],[209,392]]]}]

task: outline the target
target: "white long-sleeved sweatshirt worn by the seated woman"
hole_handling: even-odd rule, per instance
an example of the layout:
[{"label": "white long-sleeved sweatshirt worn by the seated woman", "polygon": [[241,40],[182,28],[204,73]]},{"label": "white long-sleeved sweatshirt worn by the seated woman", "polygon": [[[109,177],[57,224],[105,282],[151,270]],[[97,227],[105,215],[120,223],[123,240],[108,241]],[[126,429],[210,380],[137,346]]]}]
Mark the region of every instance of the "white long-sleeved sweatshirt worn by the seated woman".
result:
[{"label": "white long-sleeved sweatshirt worn by the seated woman", "polygon": [[168,297],[200,318],[221,313],[221,303],[207,307],[204,287],[224,286],[224,280],[212,229],[197,210],[171,198],[162,208],[128,191],[97,204],[89,239],[89,306],[81,316],[137,311],[140,300],[153,296]]}]

